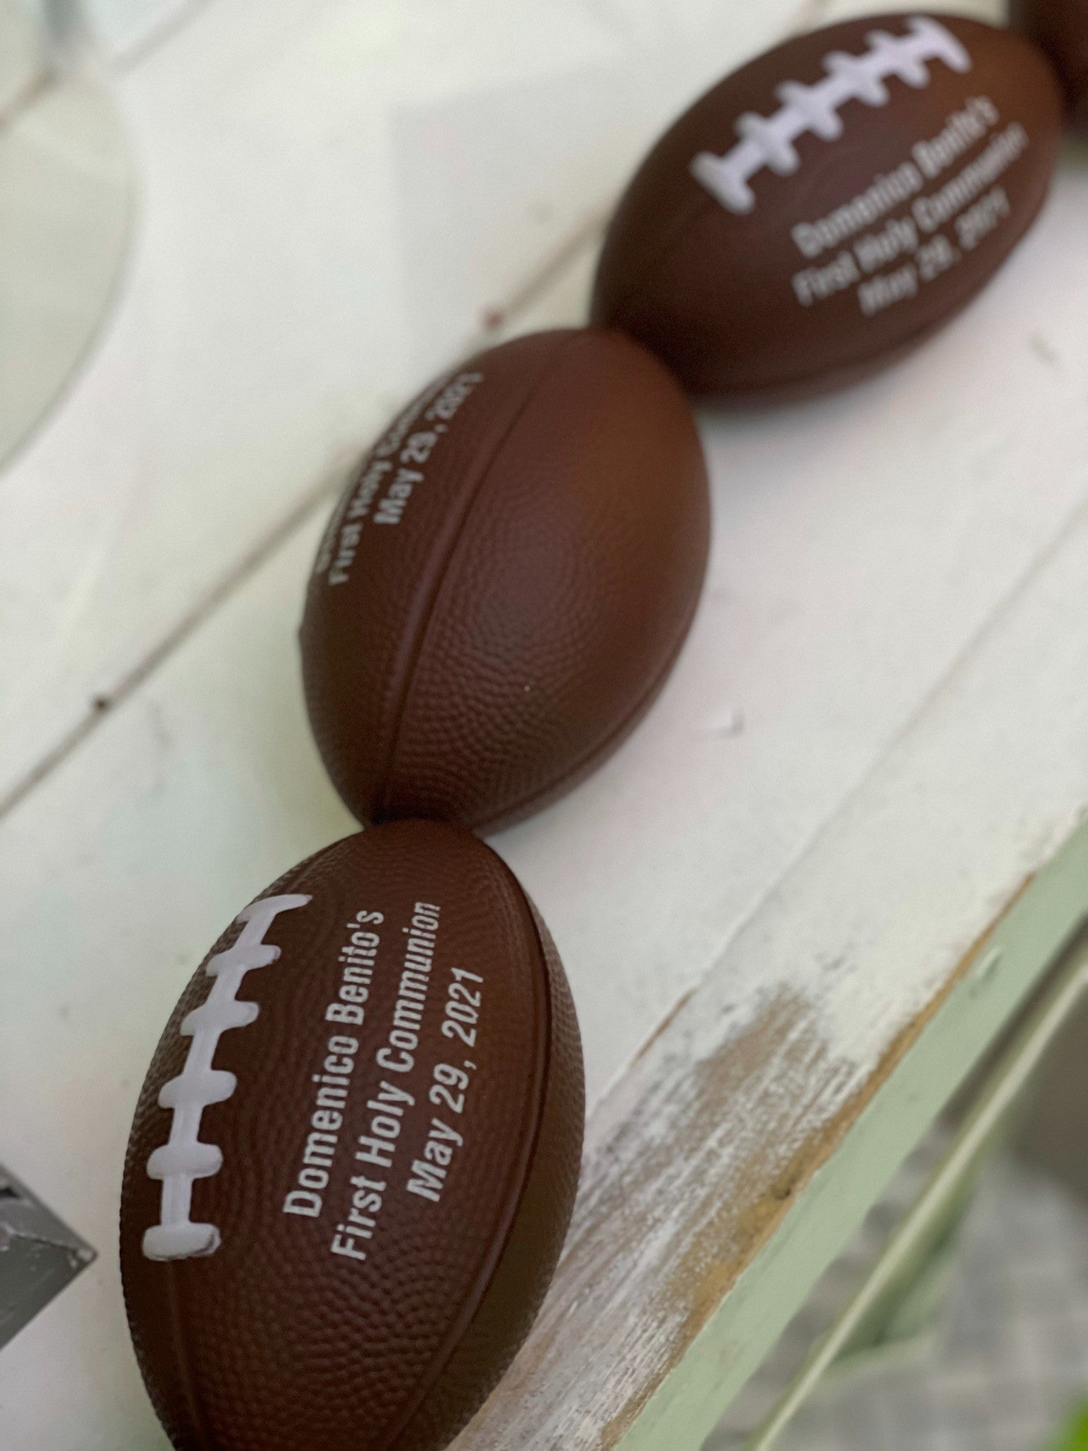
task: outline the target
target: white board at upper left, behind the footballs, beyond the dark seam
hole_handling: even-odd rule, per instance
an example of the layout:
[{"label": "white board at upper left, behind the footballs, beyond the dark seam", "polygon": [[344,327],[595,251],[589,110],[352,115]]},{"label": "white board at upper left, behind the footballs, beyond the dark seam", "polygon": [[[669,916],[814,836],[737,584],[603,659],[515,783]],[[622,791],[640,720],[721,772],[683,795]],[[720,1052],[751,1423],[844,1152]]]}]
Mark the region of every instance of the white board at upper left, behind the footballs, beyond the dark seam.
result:
[{"label": "white board at upper left, behind the footballs, beyond the dark seam", "polygon": [[0,479],[0,810],[796,12],[213,0],[118,73],[125,292]]}]

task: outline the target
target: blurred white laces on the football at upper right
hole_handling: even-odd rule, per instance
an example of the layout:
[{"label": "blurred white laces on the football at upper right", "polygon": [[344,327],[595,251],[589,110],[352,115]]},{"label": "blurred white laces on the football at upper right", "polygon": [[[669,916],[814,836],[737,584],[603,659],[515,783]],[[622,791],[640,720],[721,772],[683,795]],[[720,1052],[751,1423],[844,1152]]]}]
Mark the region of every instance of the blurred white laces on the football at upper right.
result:
[{"label": "blurred white laces on the football at upper right", "polygon": [[737,123],[738,144],[724,157],[701,151],[691,164],[696,181],[721,202],[743,216],[756,207],[751,178],[767,167],[778,176],[792,176],[801,165],[795,142],[812,133],[821,141],[837,141],[843,135],[838,109],[847,100],[866,106],[886,106],[885,81],[898,77],[915,90],[930,84],[930,62],[944,64],[960,74],[970,70],[970,55],[946,26],[928,16],[912,16],[910,35],[889,35],[873,30],[866,39],[865,55],[834,51],[824,57],[827,77],[815,86],[785,81],[775,90],[782,110],[773,116],[749,113]]}]

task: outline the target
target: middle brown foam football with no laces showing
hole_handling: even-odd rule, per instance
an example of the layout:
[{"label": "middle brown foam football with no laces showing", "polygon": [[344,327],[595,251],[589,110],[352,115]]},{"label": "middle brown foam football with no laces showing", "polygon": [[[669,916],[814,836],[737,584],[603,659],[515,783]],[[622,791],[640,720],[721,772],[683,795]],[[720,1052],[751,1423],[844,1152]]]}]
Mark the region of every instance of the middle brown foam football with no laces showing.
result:
[{"label": "middle brown foam football with no laces showing", "polygon": [[518,338],[437,382],[363,463],[306,599],[344,801],[479,827],[567,789],[664,683],[708,538],[691,408],[621,334]]}]

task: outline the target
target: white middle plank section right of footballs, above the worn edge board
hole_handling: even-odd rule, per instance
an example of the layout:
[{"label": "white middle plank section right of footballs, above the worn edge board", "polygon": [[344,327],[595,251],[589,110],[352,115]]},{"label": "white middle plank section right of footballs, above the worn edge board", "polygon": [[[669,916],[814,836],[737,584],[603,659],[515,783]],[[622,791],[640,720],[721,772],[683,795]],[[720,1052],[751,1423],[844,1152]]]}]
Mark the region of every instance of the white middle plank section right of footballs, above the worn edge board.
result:
[{"label": "white middle plank section right of footballs, above the worn edge board", "polygon": [[[1088,338],[1066,299],[1088,296],[1087,223],[1071,165],[1008,271],[908,363],[807,406],[705,416],[715,547],[679,669],[621,757],[503,839],[560,946],[598,963],[579,1007],[611,1026],[612,1064],[1082,505]],[[572,859],[592,897],[572,894]],[[615,1068],[593,1042],[589,1065],[598,1091]]]}]

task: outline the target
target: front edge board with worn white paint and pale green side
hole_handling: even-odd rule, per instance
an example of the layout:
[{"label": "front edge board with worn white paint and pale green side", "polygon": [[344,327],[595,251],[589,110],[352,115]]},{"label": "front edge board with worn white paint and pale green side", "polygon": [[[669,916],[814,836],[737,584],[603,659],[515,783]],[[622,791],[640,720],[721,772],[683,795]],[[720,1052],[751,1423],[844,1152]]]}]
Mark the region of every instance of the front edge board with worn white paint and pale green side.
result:
[{"label": "front edge board with worn white paint and pale green side", "polygon": [[1088,920],[1087,609],[1088,508],[599,1106],[466,1451],[701,1445]]}]

